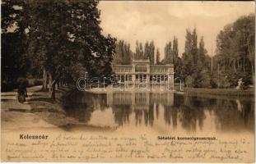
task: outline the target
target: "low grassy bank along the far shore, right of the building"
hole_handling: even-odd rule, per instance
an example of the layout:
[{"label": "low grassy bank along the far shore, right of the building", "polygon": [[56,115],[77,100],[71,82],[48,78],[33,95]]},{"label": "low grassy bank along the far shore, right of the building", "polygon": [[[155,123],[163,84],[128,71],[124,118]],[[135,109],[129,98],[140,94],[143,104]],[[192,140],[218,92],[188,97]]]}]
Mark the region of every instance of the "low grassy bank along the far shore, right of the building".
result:
[{"label": "low grassy bank along the far shore, right of the building", "polygon": [[239,97],[254,97],[254,89],[195,89],[185,88],[184,92],[196,95],[218,95],[218,96],[239,96]]}]

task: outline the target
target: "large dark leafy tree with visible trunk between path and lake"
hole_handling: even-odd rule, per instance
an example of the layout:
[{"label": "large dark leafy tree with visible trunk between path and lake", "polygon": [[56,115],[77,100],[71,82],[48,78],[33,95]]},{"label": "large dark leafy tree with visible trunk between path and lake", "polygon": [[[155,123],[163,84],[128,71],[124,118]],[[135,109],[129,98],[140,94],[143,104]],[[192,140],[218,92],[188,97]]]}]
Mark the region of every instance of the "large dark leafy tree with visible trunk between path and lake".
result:
[{"label": "large dark leafy tree with visible trunk between path and lake", "polygon": [[49,97],[55,97],[55,85],[75,63],[81,63],[89,75],[109,75],[115,39],[103,36],[98,2],[29,2],[30,58],[49,75]]}]

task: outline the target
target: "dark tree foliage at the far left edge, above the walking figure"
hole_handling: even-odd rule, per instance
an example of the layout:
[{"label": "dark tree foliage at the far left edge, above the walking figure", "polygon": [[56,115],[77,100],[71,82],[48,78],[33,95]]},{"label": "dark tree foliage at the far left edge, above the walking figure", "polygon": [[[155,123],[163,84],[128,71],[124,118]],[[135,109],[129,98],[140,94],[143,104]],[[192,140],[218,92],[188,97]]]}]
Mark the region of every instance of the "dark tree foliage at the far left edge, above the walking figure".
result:
[{"label": "dark tree foliage at the far left edge, above the walking figure", "polygon": [[2,49],[2,91],[16,87],[19,77],[27,75],[30,66],[26,58],[26,24],[22,1],[2,1],[1,10],[1,49]]}]

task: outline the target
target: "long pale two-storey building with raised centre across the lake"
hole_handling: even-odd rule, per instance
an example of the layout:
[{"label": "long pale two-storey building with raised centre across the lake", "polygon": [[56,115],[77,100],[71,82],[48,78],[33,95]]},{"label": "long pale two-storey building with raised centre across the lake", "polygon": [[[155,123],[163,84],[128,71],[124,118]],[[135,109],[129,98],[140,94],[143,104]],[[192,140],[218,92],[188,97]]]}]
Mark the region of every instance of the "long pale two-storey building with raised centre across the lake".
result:
[{"label": "long pale two-storey building with raised centre across the lake", "polygon": [[174,85],[174,65],[150,65],[149,59],[133,60],[131,65],[112,65],[115,78],[120,83]]}]

